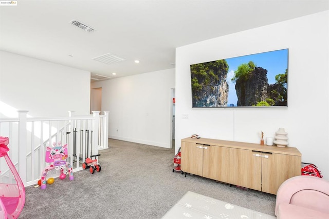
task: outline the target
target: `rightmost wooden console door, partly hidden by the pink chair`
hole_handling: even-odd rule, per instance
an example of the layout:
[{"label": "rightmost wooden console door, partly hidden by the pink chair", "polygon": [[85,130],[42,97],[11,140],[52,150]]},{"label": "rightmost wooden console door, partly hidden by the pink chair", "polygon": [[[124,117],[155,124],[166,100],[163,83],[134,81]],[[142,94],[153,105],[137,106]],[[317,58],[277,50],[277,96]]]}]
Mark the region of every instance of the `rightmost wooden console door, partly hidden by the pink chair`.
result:
[{"label": "rightmost wooden console door, partly hidden by the pink chair", "polygon": [[263,153],[262,166],[262,191],[277,194],[280,185],[284,181],[301,174],[301,157]]}]

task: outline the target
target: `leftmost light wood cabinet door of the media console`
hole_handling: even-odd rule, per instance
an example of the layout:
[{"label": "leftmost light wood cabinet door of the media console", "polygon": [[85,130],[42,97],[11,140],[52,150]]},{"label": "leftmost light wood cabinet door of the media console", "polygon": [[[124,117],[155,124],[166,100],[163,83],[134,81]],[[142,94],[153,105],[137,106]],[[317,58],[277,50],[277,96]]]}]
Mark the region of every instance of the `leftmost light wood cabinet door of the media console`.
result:
[{"label": "leftmost light wood cabinet door of the media console", "polygon": [[180,169],[183,172],[203,175],[203,145],[181,142]]}]

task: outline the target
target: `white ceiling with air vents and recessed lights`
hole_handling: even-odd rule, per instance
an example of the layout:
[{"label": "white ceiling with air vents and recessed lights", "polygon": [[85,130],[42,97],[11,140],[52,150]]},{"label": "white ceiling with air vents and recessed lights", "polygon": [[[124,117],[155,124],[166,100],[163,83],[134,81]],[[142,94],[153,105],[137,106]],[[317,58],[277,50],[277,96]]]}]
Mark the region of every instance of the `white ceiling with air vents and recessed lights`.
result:
[{"label": "white ceiling with air vents and recessed lights", "polygon": [[[174,68],[176,47],[325,10],[328,0],[17,0],[0,6],[0,49],[99,81]],[[110,64],[93,59],[108,53]]]}]

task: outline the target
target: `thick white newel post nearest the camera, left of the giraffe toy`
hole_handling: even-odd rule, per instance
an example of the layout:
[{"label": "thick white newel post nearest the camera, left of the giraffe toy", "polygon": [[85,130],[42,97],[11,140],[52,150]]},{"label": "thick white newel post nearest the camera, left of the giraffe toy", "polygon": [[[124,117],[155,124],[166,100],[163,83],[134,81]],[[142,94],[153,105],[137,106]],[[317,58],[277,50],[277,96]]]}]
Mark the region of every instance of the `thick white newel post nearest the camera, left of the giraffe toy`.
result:
[{"label": "thick white newel post nearest the camera, left of the giraffe toy", "polygon": [[17,110],[19,113],[19,173],[26,185],[26,147],[27,147],[27,110]]}]

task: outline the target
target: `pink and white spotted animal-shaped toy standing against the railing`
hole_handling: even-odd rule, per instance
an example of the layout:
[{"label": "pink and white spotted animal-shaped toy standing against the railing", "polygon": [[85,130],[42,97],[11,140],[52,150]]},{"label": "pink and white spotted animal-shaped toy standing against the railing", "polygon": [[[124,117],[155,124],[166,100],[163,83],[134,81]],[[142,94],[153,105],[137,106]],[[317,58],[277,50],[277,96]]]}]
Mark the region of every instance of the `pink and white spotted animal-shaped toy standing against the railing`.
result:
[{"label": "pink and white spotted animal-shaped toy standing against the railing", "polygon": [[60,170],[60,179],[64,180],[66,173],[64,173],[64,168],[66,167],[69,180],[74,180],[72,166],[69,162],[66,162],[67,158],[67,144],[61,146],[61,143],[53,143],[54,147],[47,147],[46,151],[46,162],[52,163],[46,167],[41,174],[41,189],[47,188],[47,173],[49,170],[56,169]]}]

